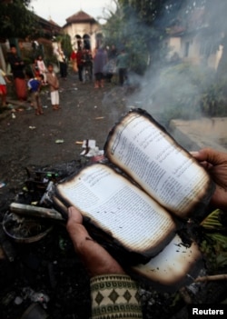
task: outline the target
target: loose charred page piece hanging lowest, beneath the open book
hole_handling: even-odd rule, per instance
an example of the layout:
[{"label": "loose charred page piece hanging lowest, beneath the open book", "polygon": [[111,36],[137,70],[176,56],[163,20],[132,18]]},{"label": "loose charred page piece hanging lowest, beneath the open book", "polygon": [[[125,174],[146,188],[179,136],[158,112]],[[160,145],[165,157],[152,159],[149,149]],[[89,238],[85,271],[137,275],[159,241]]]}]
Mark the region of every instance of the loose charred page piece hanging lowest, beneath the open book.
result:
[{"label": "loose charred page piece hanging lowest, beneath the open book", "polygon": [[163,251],[146,264],[132,267],[132,276],[138,280],[153,284],[153,287],[164,292],[175,292],[180,287],[192,284],[204,264],[198,244],[183,244],[179,234],[166,245]]}]

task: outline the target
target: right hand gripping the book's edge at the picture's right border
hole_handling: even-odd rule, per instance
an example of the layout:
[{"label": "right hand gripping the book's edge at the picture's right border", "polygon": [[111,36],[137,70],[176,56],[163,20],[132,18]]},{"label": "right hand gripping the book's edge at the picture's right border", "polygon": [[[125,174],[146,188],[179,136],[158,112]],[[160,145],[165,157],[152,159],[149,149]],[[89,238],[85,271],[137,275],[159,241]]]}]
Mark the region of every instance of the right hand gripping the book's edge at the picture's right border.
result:
[{"label": "right hand gripping the book's edge at the picture's right border", "polygon": [[199,152],[191,152],[191,155],[202,164],[216,184],[211,204],[227,210],[227,153],[203,148]]}]

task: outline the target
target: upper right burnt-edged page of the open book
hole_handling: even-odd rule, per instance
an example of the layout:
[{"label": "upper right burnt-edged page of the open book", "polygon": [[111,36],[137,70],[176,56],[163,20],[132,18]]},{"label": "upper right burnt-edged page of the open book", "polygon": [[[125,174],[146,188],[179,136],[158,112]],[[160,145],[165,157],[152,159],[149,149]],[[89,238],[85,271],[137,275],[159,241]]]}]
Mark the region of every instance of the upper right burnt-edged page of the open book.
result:
[{"label": "upper right burnt-edged page of the open book", "polygon": [[104,154],[168,211],[204,217],[214,191],[210,176],[145,111],[132,110],[114,126]]}]

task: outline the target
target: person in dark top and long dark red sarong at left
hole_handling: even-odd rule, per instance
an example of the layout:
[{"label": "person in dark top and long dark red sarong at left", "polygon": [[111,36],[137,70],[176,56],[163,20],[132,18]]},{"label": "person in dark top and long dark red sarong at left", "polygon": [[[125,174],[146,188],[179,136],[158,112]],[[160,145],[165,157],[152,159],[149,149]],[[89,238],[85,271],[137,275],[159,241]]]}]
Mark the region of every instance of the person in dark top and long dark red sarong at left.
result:
[{"label": "person in dark top and long dark red sarong at left", "polygon": [[17,54],[15,45],[10,45],[10,53],[8,55],[8,63],[11,66],[11,71],[15,81],[15,92],[19,101],[27,99],[27,87],[25,82],[25,63]]}]

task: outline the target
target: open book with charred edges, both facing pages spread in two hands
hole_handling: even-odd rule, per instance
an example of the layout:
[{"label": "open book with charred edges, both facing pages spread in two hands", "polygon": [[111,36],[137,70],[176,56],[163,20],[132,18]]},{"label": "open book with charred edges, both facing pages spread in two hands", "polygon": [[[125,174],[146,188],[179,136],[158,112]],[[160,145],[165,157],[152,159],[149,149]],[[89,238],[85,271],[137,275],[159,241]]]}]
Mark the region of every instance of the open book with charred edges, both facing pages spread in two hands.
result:
[{"label": "open book with charred edges, both facing pages spread in two hands", "polygon": [[214,191],[209,175],[145,111],[134,109],[114,125],[104,155],[104,163],[57,184],[54,203],[61,211],[77,207],[133,264],[161,253],[189,218],[204,217]]}]

